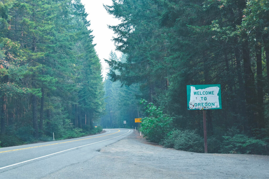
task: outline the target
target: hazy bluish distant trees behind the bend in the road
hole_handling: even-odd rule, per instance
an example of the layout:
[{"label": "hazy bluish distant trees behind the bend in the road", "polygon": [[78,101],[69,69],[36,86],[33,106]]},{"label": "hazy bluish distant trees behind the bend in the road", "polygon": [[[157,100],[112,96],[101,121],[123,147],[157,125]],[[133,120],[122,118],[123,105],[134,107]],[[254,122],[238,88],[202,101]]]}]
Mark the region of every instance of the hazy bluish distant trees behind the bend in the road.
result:
[{"label": "hazy bluish distant trees behind the bend in the road", "polygon": [[[110,60],[124,62],[126,56],[123,54],[119,59],[116,53],[110,52]],[[101,117],[103,128],[127,128],[135,127],[134,118],[139,117],[139,100],[137,96],[141,95],[139,85],[122,85],[120,82],[113,82],[109,79],[104,81],[105,90],[105,112]],[[126,120],[126,124],[123,121]]]}]

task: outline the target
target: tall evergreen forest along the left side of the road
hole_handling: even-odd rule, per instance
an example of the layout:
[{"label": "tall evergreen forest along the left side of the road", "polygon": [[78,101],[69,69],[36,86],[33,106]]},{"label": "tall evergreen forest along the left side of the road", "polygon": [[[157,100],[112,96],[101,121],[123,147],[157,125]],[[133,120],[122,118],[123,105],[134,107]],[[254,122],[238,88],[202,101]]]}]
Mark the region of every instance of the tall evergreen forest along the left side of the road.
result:
[{"label": "tall evergreen forest along the left side of the road", "polygon": [[2,147],[102,130],[101,64],[86,17],[79,0],[0,1]]}]

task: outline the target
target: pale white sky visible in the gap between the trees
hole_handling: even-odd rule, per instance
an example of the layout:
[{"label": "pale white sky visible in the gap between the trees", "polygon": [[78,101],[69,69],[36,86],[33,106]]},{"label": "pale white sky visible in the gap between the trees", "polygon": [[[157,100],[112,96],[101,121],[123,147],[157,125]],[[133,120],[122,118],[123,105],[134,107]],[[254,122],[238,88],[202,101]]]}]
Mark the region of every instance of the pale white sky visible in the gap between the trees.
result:
[{"label": "pale white sky visible in the gap between the trees", "polygon": [[108,59],[111,50],[117,54],[118,57],[121,53],[115,51],[115,45],[112,41],[112,37],[116,36],[107,25],[117,25],[120,23],[114,16],[109,15],[104,5],[112,5],[111,0],[81,0],[81,3],[85,6],[86,13],[89,14],[87,20],[90,21],[90,29],[93,30],[91,35],[94,36],[93,43],[95,45],[95,51],[101,60],[102,64],[102,76],[103,78],[107,74],[108,64],[104,59]]}]

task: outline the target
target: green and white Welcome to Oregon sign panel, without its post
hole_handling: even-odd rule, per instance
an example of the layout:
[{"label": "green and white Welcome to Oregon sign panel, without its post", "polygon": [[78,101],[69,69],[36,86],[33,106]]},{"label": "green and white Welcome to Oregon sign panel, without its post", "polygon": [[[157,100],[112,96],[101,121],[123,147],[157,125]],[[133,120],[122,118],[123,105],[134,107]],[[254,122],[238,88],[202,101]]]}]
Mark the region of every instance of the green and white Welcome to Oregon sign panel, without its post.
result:
[{"label": "green and white Welcome to Oregon sign panel, without its post", "polygon": [[221,109],[220,85],[187,85],[188,110]]}]

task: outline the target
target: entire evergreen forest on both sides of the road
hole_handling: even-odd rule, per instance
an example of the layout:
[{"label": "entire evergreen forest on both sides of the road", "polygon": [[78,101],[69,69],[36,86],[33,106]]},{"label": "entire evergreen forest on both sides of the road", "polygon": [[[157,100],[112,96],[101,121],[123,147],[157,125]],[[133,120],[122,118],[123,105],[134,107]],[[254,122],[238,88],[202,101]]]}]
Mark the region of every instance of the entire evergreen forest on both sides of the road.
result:
[{"label": "entire evergreen forest on both sides of the road", "polygon": [[[112,0],[102,81],[79,0],[0,1],[1,146],[134,128],[164,147],[204,152],[203,110],[186,85],[221,85],[206,110],[209,153],[269,155],[267,0]],[[126,120],[126,124],[123,121]],[[98,126],[98,127],[94,127]]]}]

